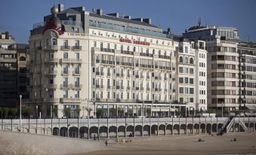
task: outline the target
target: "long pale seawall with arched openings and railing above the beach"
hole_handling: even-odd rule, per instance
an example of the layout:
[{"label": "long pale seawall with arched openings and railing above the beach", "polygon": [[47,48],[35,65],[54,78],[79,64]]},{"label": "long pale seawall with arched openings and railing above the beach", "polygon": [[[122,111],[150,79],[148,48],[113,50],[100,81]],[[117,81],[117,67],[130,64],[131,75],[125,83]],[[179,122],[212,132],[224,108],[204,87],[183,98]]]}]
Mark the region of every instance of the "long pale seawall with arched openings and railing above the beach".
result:
[{"label": "long pale seawall with arched openings and railing above the beach", "polygon": [[72,138],[118,138],[152,135],[193,135],[210,132],[254,132],[256,117],[164,117],[109,119],[2,120],[1,129]]}]

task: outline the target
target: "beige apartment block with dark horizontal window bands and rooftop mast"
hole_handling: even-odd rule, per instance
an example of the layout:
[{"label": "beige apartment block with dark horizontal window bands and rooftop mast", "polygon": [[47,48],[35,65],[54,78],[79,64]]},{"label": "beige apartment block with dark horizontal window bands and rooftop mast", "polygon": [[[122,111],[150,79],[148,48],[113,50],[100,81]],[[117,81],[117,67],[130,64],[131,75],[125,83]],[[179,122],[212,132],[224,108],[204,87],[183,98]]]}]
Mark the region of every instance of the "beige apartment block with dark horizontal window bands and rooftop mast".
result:
[{"label": "beige apartment block with dark horizontal window bands and rooftop mast", "polygon": [[184,38],[205,41],[207,54],[208,108],[235,110],[241,102],[239,89],[238,31],[231,27],[193,26]]}]

